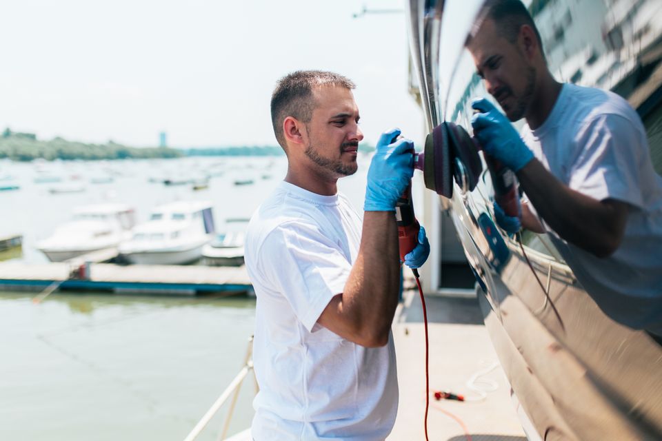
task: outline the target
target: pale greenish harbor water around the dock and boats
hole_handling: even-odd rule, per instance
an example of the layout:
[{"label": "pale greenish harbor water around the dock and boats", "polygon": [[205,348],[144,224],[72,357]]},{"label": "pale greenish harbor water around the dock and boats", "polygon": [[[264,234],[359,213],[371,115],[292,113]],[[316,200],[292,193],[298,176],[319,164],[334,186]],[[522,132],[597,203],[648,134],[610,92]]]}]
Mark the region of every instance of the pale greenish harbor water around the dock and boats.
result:
[{"label": "pale greenish harbor water around the dock and boats", "polygon": [[[358,209],[368,161],[360,156],[359,172],[339,181]],[[22,234],[12,258],[41,263],[36,243],[74,207],[128,203],[141,222],[152,207],[195,200],[212,202],[222,231],[225,219],[250,217],[286,169],[284,156],[0,161],[0,175],[20,187],[0,192],[0,235]],[[205,176],[200,190],[163,184]],[[182,440],[239,373],[254,327],[250,297],[57,292],[35,305],[34,295],[0,292],[0,440]],[[251,373],[228,434],[250,426],[254,393]],[[219,438],[228,404],[199,440]]]}]

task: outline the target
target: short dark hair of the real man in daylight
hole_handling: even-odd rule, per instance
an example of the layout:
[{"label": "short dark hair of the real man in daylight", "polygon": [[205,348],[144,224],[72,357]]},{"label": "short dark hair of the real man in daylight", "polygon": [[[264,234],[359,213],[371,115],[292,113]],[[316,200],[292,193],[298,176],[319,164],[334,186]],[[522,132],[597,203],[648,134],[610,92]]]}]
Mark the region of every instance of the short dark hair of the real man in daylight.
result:
[{"label": "short dark hair of the real man in daylight", "polygon": [[310,122],[316,105],[312,90],[322,85],[339,85],[350,90],[357,87],[345,76],[322,70],[297,70],[283,76],[276,84],[271,95],[271,123],[283,150],[287,147],[283,121],[293,116],[303,123]]}]

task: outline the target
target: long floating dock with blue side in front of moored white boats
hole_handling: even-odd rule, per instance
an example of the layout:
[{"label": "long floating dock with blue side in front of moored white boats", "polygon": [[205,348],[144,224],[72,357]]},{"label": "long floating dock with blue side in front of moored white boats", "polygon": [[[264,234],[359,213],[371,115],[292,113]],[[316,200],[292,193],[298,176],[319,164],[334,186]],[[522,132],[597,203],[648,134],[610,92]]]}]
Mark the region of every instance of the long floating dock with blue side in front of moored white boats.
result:
[{"label": "long floating dock with blue side in front of moored white boats", "polygon": [[121,294],[187,295],[252,291],[245,266],[114,265],[111,263],[0,263],[0,290],[57,289]]}]

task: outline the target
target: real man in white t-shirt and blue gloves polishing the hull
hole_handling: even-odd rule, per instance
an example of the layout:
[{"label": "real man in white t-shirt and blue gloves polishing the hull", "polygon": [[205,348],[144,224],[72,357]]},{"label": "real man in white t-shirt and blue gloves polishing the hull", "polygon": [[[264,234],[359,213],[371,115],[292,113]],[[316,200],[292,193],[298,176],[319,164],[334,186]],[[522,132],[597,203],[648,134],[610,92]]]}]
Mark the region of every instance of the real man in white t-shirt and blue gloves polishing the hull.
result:
[{"label": "real man in white t-shirt and blue gloves polishing the hull", "polygon": [[[361,221],[337,181],[357,171],[363,134],[354,84],[294,72],[271,101],[288,173],[253,215],[245,262],[257,295],[252,437],[383,440],[398,389],[390,327],[400,263],[394,208],[412,178],[411,141],[377,143]],[[363,231],[361,232],[361,223]],[[423,264],[430,246],[405,258]]]}]

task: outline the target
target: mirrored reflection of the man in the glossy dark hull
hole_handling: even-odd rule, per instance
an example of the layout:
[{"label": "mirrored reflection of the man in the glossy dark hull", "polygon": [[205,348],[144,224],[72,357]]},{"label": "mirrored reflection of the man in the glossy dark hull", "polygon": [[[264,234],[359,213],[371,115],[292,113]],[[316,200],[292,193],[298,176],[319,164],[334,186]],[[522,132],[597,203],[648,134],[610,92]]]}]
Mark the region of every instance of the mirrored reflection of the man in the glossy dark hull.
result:
[{"label": "mirrored reflection of the man in the glossy dark hull", "polygon": [[[480,99],[472,125],[485,152],[517,174],[521,225],[553,230],[606,314],[662,336],[662,178],[641,119],[612,92],[557,82],[521,1],[488,0],[483,12],[467,47],[505,116]],[[520,136],[510,121],[522,118]],[[494,214],[519,230],[496,204]]]}]

